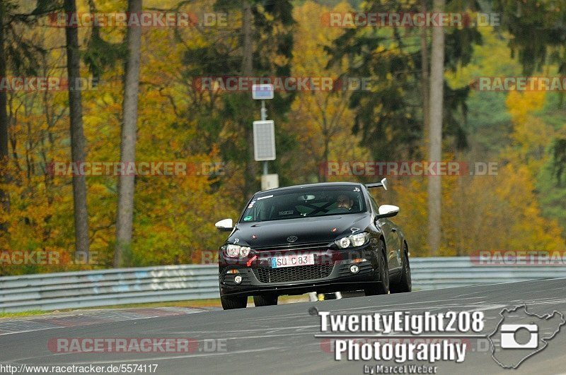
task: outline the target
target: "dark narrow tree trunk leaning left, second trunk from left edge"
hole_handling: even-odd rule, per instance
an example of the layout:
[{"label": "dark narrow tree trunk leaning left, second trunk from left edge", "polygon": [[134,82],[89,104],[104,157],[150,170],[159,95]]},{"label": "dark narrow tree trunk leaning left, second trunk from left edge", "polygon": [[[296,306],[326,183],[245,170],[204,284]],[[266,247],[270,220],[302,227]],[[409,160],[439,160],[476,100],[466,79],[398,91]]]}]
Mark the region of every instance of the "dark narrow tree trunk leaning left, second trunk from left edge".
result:
[{"label": "dark narrow tree trunk leaning left, second trunk from left edge", "polygon": [[[67,14],[76,13],[75,0],[65,0]],[[81,90],[76,87],[80,78],[79,29],[65,28],[67,38],[67,76],[69,78],[69,118],[71,120],[71,160],[85,161],[83,133],[83,107]],[[84,176],[73,177],[73,203],[75,221],[75,251],[86,261],[88,254],[88,211],[86,208],[86,181]]]}]

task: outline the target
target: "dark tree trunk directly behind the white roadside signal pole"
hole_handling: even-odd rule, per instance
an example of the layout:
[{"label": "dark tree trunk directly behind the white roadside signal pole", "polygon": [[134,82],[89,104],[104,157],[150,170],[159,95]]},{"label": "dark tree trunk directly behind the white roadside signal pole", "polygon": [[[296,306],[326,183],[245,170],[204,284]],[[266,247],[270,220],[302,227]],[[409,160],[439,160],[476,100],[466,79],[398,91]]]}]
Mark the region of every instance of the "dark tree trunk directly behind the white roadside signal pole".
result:
[{"label": "dark tree trunk directly behind the white roadside signal pole", "polygon": [[[243,33],[243,51],[242,51],[242,75],[244,77],[251,77],[253,75],[253,41],[252,41],[252,24],[253,24],[253,13],[252,7],[249,0],[243,1],[243,20],[242,20],[242,33]],[[243,95],[248,95],[245,93]],[[248,100],[250,102],[250,107],[253,105],[251,97]],[[244,116],[242,121],[248,121]],[[249,121],[248,121],[249,122]],[[252,124],[242,124],[243,129],[245,129],[246,142],[248,143],[248,157],[246,160],[246,183],[245,183],[245,197],[244,201],[248,201],[250,195],[255,193],[257,189],[257,184],[255,178],[258,174],[258,166],[255,162],[253,155],[253,127]]]}]

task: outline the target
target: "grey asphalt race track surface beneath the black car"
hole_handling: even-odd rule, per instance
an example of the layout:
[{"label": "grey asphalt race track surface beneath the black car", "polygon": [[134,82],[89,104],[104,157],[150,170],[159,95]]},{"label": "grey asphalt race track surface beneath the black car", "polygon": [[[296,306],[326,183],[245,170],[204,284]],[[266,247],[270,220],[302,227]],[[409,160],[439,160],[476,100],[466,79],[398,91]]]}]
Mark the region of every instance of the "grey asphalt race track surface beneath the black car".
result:
[{"label": "grey asphalt race track surface beneath the black car", "polygon": [[[531,313],[560,311],[566,316],[566,280],[458,287],[231,311],[187,309],[187,314],[146,319],[100,322],[95,319],[84,325],[46,325],[27,332],[13,329],[0,334],[0,364],[158,364],[156,374],[363,374],[364,365],[374,367],[378,363],[336,361],[328,340],[315,338],[320,333],[320,317],[308,313],[311,306],[333,314],[484,311],[483,334],[488,335],[495,330],[504,307],[523,303]],[[478,347],[471,348],[461,364],[437,362],[434,366],[438,374],[562,373],[566,371],[565,327],[544,350],[526,359],[516,370],[499,367],[489,351]],[[194,352],[181,353],[53,352],[48,344],[57,338],[191,338],[197,340],[198,346]]]}]

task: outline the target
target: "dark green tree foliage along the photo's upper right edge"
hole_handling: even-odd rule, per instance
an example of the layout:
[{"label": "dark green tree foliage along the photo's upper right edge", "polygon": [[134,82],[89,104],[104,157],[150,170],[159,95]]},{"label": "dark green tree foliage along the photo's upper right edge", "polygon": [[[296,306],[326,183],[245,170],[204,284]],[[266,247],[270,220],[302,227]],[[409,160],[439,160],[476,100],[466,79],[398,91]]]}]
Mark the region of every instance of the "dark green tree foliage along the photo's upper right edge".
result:
[{"label": "dark green tree foliage along the photo's upper right edge", "polygon": [[[509,49],[523,68],[523,73],[554,71],[556,76],[566,73],[566,7],[561,1],[494,1],[494,10],[502,14],[499,32],[510,33]],[[550,69],[549,69],[550,68]],[[556,117],[559,131],[548,142],[548,153],[553,155],[541,169],[538,187],[541,199],[546,203],[543,211],[550,217],[560,220],[566,233],[566,186],[563,165],[566,160],[566,131],[564,118],[559,117],[563,110],[563,95],[549,95],[553,99],[552,108],[547,111]],[[562,124],[560,124],[562,119]],[[560,125],[558,125],[560,124]]]}]

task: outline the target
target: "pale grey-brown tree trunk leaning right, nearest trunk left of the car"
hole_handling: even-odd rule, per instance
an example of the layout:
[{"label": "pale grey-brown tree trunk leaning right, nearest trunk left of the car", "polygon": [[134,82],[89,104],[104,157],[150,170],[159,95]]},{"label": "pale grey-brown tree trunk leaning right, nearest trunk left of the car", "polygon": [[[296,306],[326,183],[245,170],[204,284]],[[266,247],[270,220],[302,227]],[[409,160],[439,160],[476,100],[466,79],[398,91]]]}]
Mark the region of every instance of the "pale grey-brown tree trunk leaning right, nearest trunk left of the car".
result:
[{"label": "pale grey-brown tree trunk leaning right, nearest trunk left of the car", "polygon": [[[141,1],[128,0],[128,13],[141,12]],[[136,161],[141,28],[128,28],[126,38],[128,56],[125,69],[124,102],[122,103],[122,138],[120,141],[120,162],[122,163]],[[115,267],[122,266],[125,254],[129,254],[132,248],[135,190],[135,176],[122,175],[118,179]]]}]

